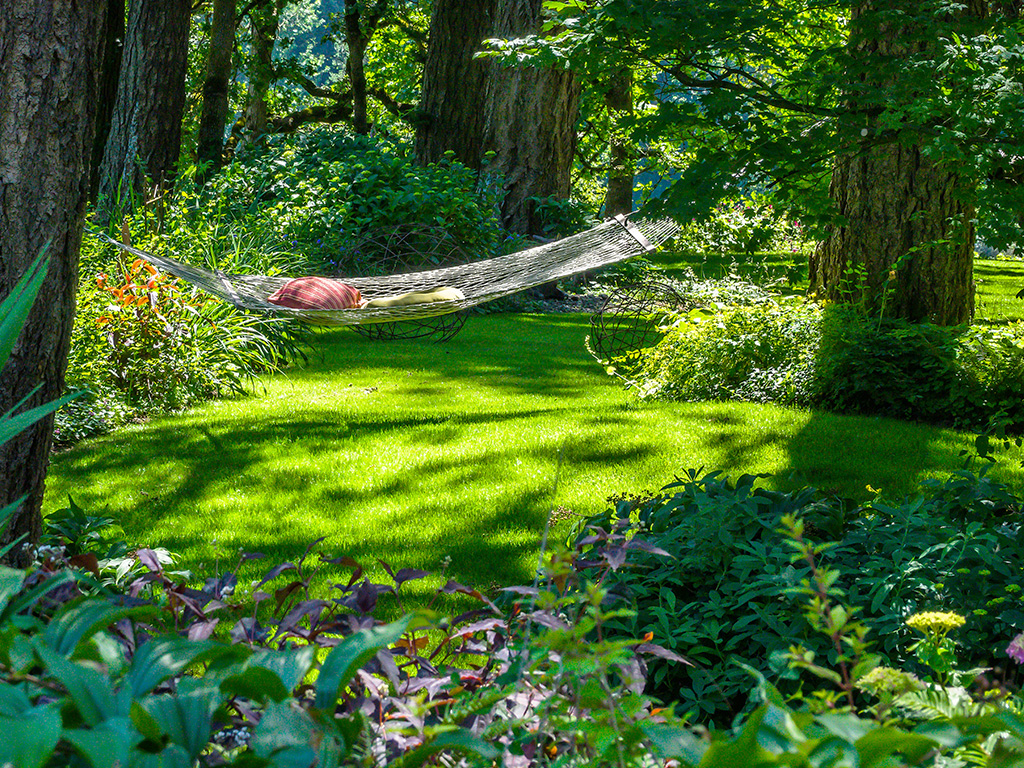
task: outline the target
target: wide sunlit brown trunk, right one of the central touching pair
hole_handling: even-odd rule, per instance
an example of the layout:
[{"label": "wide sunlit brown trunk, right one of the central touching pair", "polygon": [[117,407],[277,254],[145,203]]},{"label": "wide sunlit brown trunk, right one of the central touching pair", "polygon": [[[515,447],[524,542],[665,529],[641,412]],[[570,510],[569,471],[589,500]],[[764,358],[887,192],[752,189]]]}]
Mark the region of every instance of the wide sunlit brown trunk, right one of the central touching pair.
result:
[{"label": "wide sunlit brown trunk, right one of the central touching pair", "polygon": [[[541,30],[541,0],[500,0],[496,37]],[[486,172],[502,179],[502,222],[510,231],[543,234],[536,199],[566,200],[575,152],[580,84],[568,70],[493,65],[483,150]]]}]

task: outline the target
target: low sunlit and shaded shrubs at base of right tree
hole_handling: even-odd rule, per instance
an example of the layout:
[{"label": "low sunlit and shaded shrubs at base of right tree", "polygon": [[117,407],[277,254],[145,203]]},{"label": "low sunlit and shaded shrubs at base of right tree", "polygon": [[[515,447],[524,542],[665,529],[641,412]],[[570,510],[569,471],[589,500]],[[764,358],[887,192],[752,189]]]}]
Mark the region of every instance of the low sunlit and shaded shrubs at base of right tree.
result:
[{"label": "low sunlit and shaded shrubs at base of right tree", "polygon": [[727,301],[687,295],[701,308],[641,353],[641,396],[772,401],[957,428],[1000,420],[1024,430],[1024,324],[947,328],[735,292]]}]

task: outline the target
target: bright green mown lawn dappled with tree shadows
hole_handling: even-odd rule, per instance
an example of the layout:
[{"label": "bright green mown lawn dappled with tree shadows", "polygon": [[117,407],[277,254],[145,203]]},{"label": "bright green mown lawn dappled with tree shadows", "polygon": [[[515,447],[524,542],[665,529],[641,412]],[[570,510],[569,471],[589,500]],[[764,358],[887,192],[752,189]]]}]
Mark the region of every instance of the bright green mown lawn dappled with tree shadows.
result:
[{"label": "bright green mown lawn dappled with tree shadows", "polygon": [[[604,509],[690,467],[770,472],[866,497],[959,464],[967,435],[742,403],[638,404],[588,355],[581,315],[475,316],[453,341],[317,335],[308,365],[253,396],[155,418],[54,456],[70,494],[129,542],[208,571],[323,550],[480,587],[531,578],[545,520]],[[1000,471],[1022,479],[1016,462]],[[262,567],[243,573],[253,578]],[[337,579],[337,577],[332,577]]]}]

